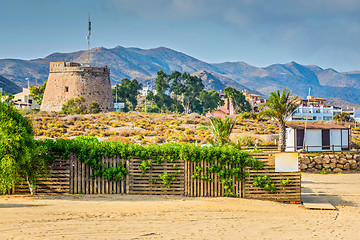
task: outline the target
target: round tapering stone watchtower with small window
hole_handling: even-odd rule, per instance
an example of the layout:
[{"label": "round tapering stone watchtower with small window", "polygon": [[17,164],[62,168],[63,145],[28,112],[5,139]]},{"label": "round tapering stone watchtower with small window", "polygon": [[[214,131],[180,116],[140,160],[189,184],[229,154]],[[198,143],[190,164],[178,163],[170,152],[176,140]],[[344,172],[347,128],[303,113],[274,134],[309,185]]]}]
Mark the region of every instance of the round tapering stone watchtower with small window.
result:
[{"label": "round tapering stone watchtower with small window", "polygon": [[51,62],[40,110],[61,111],[63,104],[78,97],[85,98],[86,106],[96,101],[103,112],[113,111],[110,69],[73,62]]}]

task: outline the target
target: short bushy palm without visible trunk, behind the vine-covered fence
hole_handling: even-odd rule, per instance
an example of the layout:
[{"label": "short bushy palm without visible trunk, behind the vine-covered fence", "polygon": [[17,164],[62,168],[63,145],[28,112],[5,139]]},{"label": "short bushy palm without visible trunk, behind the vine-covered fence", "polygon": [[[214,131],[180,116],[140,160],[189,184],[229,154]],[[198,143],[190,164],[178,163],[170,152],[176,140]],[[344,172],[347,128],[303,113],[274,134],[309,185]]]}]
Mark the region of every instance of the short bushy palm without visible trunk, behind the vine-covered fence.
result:
[{"label": "short bushy palm without visible trunk, behind the vine-covered fence", "polygon": [[235,127],[238,118],[225,117],[224,120],[221,118],[210,117],[210,125],[201,125],[197,127],[198,130],[206,129],[214,135],[213,144],[223,146],[230,142],[230,134]]}]

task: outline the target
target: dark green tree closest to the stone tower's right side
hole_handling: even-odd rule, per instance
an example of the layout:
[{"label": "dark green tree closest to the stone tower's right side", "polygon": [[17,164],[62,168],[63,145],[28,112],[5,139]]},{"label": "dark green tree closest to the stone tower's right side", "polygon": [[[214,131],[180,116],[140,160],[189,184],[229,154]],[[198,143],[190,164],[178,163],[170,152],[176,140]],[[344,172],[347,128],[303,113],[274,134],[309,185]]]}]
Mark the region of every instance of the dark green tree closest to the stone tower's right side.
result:
[{"label": "dark green tree closest to the stone tower's right side", "polygon": [[129,106],[134,110],[137,106],[137,96],[139,95],[139,90],[142,89],[142,84],[139,83],[136,79],[130,80],[124,78],[121,80],[120,84],[116,84],[115,88],[112,90],[113,98],[116,102],[116,92],[117,92],[117,102],[125,103],[125,111],[129,110]]}]

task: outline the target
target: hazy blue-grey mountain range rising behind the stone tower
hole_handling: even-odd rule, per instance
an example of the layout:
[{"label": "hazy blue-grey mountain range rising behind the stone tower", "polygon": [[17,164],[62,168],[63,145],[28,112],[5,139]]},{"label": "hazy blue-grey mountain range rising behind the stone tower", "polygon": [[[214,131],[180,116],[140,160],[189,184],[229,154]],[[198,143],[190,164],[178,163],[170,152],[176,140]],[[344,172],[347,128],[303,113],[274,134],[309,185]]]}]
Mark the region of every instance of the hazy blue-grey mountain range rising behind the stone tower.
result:
[{"label": "hazy blue-grey mountain range rising behind the stone tower", "polygon": [[[138,79],[142,83],[154,83],[156,72],[188,72],[203,79],[205,89],[222,90],[232,86],[239,90],[259,92],[264,97],[270,92],[287,87],[294,95],[305,97],[311,86],[311,95],[331,98],[335,103],[360,104],[360,71],[338,72],[316,65],[301,65],[296,62],[255,67],[245,62],[207,63],[184,53],[159,47],[154,49],[93,48],[90,50],[94,65],[107,65],[111,70],[112,83],[122,78]],[[26,86],[47,79],[49,63],[73,61],[84,63],[88,51],[53,53],[34,60],[0,59],[0,75],[18,86]],[[1,87],[1,86],[0,86]]]}]

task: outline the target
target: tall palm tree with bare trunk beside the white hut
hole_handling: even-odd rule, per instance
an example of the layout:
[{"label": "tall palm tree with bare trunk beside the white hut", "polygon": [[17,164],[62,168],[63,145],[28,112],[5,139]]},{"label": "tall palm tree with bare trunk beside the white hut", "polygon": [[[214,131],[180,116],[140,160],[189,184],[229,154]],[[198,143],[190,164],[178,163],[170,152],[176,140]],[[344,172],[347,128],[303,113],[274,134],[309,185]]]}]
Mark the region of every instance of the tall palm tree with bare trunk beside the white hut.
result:
[{"label": "tall palm tree with bare trunk beside the white hut", "polygon": [[291,91],[287,92],[287,88],[280,94],[280,91],[270,93],[266,103],[262,104],[260,108],[267,107],[260,112],[260,116],[268,116],[275,119],[279,124],[279,151],[285,151],[286,139],[286,121],[291,117],[297,107],[300,105],[299,98],[294,97],[290,99]]}]

